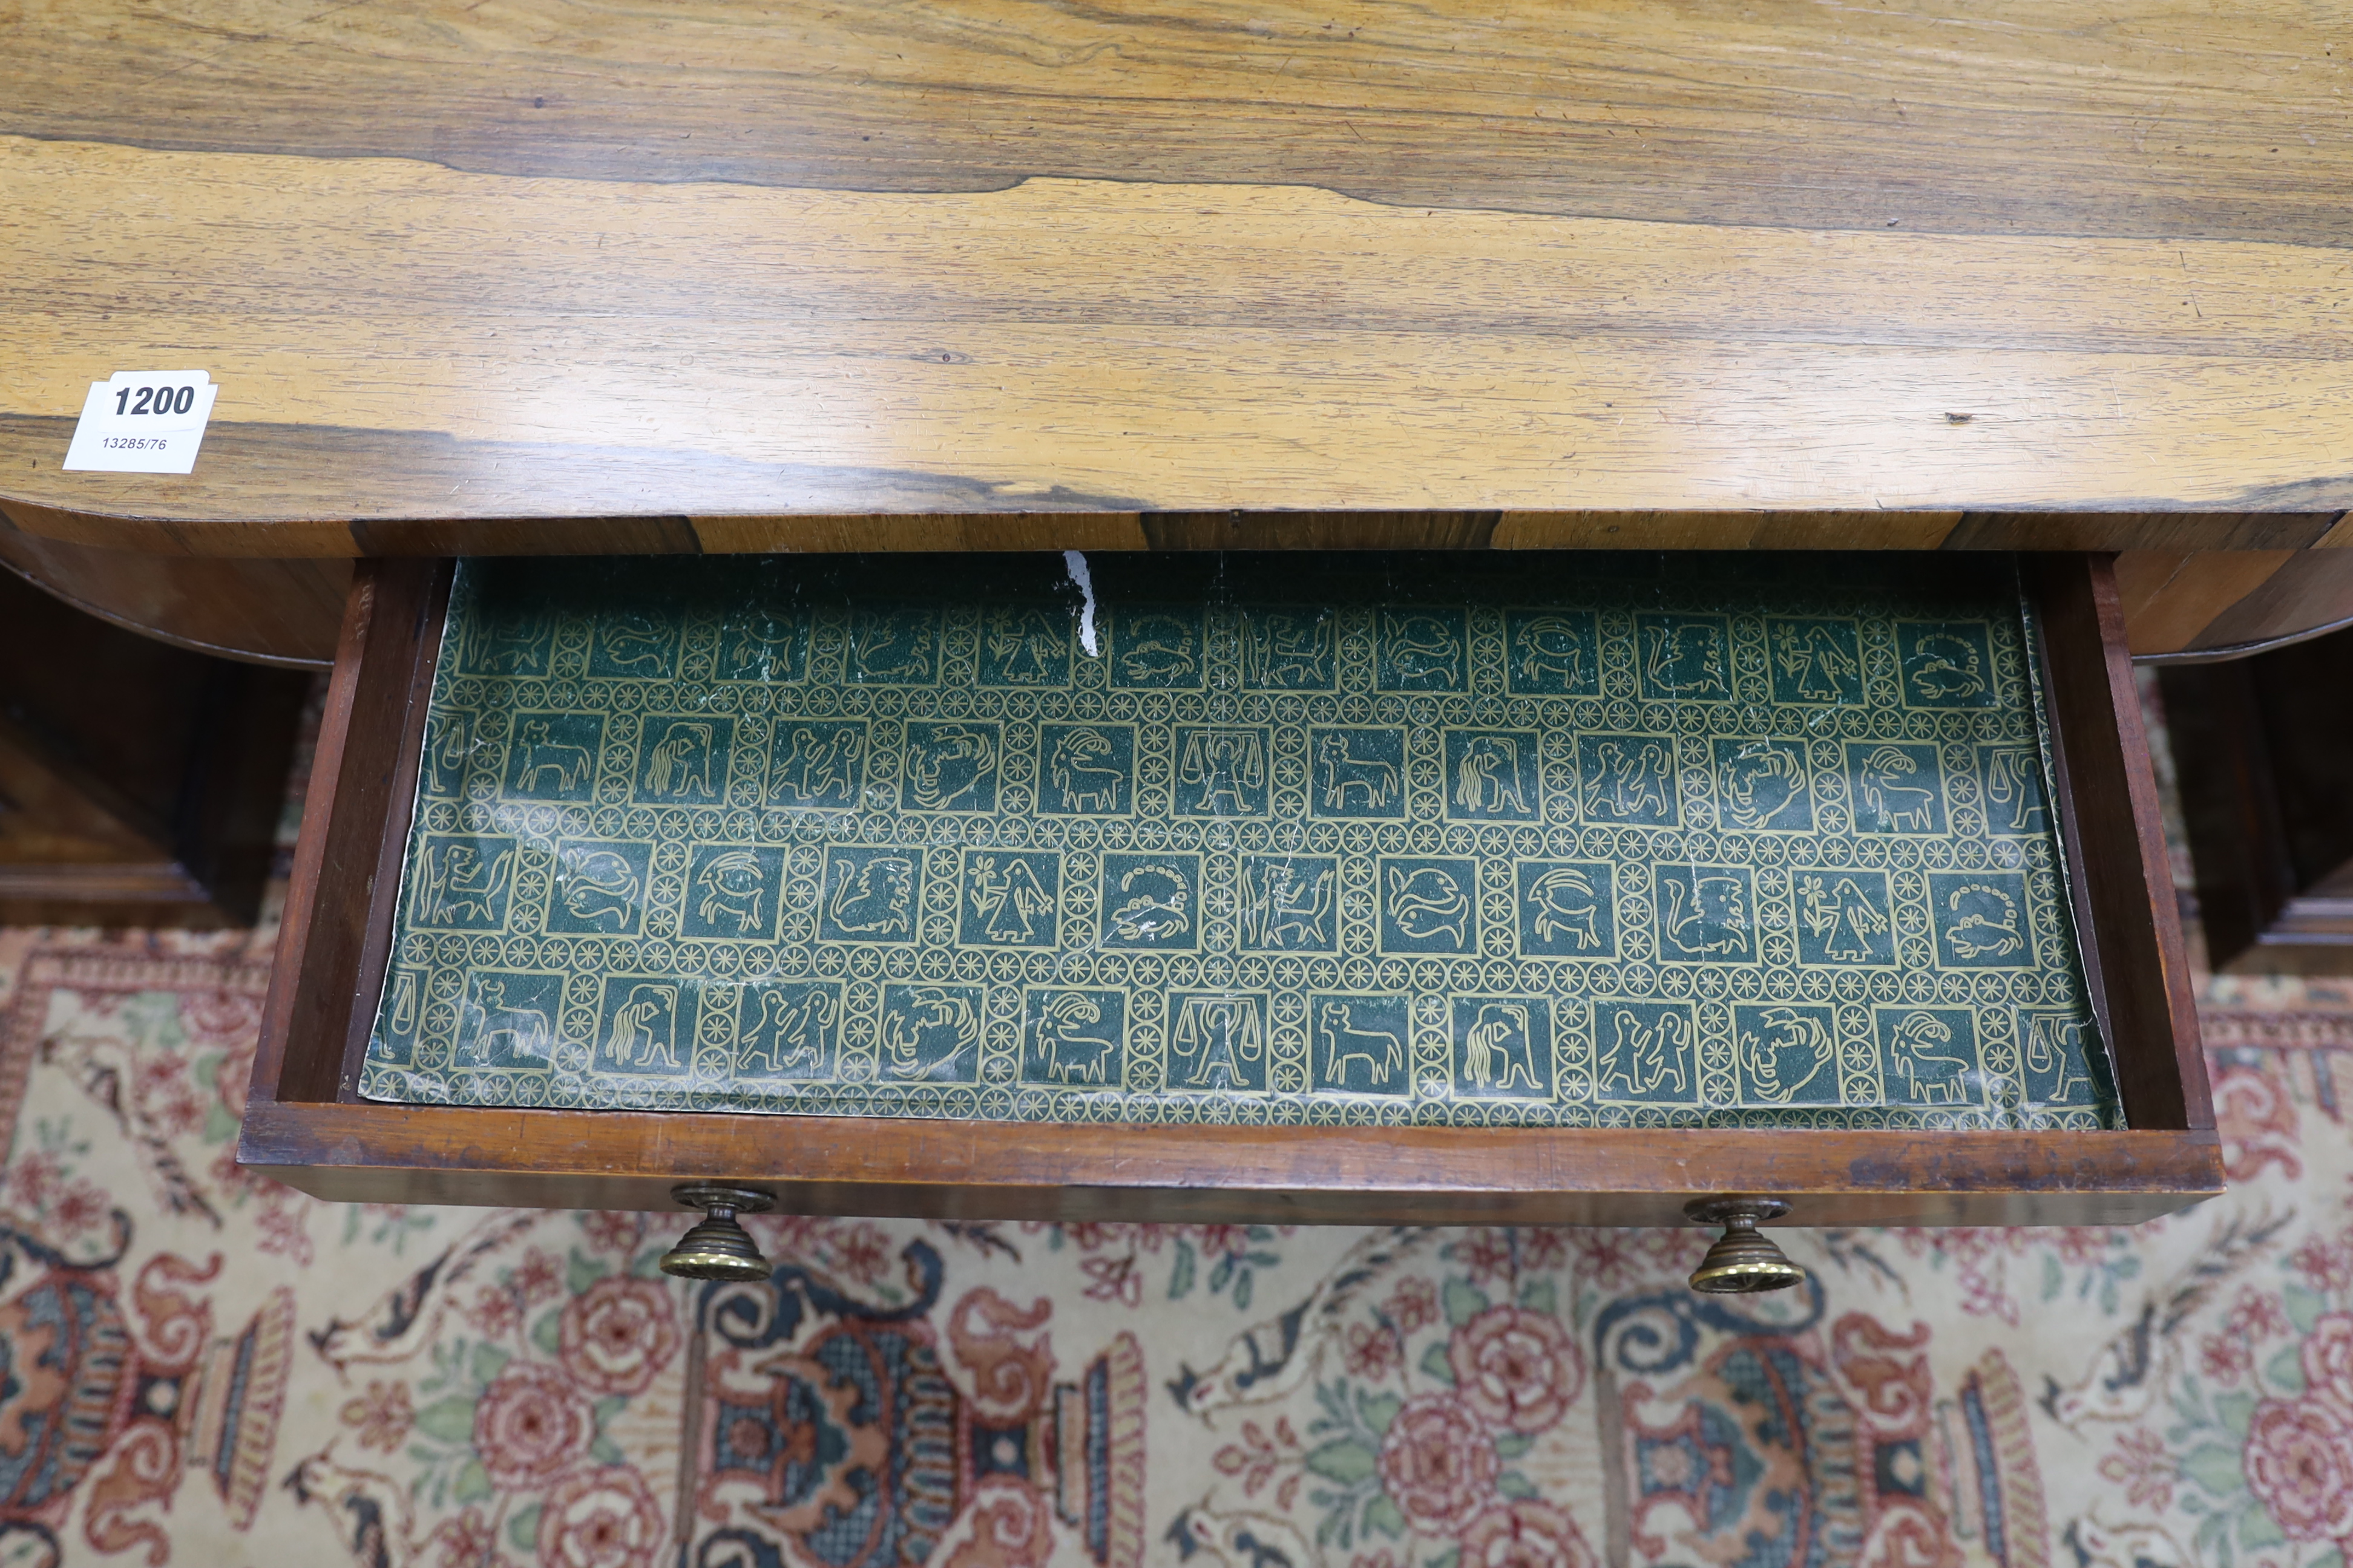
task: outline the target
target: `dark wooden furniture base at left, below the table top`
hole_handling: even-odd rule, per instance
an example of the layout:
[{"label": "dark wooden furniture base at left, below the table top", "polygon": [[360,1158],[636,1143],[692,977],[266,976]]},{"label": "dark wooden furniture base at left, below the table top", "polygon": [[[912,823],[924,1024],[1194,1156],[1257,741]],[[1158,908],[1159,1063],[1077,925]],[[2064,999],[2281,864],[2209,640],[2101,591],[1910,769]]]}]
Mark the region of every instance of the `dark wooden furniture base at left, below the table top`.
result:
[{"label": "dark wooden furniture base at left, below the table top", "polygon": [[252,924],[308,691],[0,571],[0,922]]}]

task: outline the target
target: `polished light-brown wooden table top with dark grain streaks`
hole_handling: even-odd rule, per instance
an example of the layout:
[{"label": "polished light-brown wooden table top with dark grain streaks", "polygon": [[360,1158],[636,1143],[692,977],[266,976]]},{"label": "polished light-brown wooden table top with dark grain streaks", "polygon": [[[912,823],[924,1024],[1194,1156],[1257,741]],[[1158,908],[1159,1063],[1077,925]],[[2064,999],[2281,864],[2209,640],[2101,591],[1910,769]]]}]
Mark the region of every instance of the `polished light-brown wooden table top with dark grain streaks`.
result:
[{"label": "polished light-brown wooden table top with dark grain streaks", "polygon": [[[21,0],[0,508],[228,555],[2292,550],[2353,508],[2348,21]],[[176,367],[193,475],[61,473],[89,381]]]}]

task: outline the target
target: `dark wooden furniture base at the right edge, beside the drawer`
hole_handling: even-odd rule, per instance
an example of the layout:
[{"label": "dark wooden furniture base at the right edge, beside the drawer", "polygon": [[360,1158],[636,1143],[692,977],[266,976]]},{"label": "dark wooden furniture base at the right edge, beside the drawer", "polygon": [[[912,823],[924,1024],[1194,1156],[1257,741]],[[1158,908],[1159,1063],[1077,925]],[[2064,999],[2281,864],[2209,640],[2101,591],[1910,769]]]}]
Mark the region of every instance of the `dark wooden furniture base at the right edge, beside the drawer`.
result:
[{"label": "dark wooden furniture base at the right edge, beside the drawer", "polygon": [[2207,961],[2353,973],[2353,632],[2158,684]]}]

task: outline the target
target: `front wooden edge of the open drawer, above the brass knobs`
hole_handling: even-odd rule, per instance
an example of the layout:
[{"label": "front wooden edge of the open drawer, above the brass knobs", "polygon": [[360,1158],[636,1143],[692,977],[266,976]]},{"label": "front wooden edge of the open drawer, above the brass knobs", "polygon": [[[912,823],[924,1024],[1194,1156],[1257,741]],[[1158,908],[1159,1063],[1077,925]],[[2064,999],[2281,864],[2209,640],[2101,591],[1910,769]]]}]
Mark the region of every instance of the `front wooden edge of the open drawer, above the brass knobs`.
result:
[{"label": "front wooden edge of the open drawer, above the brass knobs", "polygon": [[1172,1225],[1685,1225],[1687,1201],[1732,1192],[1788,1199],[1786,1225],[2137,1225],[2224,1190],[2212,1131],[1193,1128],[268,1098],[245,1110],[238,1161],[334,1204],[675,1211],[673,1182],[725,1180],[786,1213]]}]

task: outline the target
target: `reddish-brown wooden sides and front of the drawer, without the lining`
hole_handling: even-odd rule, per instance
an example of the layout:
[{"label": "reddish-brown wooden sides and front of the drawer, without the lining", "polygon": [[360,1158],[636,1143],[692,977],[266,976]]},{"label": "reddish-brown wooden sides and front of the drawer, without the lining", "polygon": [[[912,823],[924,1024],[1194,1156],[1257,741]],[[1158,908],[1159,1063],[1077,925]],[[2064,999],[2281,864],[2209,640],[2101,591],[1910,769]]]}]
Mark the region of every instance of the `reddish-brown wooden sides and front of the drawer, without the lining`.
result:
[{"label": "reddish-brown wooden sides and front of the drawer, without the lining", "polygon": [[386,1105],[353,1091],[388,961],[445,564],[362,562],[336,654],[238,1159],[334,1201],[793,1213],[1682,1225],[2122,1225],[2221,1190],[2155,783],[2106,557],[2033,562],[2080,867],[2075,919],[2129,1131],[1132,1126]]}]

